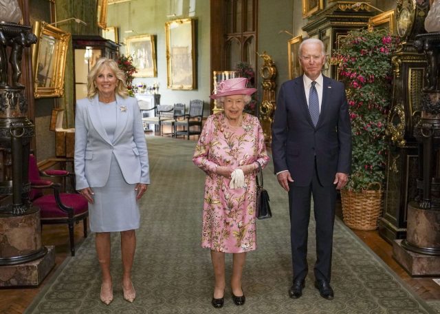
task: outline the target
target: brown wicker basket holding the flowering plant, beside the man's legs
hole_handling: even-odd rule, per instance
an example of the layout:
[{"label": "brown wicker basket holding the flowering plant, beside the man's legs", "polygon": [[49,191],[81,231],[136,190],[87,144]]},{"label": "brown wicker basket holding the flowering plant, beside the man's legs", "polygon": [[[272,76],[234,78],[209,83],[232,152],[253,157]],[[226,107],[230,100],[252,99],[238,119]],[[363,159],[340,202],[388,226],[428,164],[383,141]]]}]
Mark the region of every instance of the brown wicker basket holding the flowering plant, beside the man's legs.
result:
[{"label": "brown wicker basket holding the flowering plant, beside the man's legs", "polygon": [[[373,185],[377,185],[379,189],[371,189]],[[351,229],[377,229],[377,222],[382,213],[383,194],[380,183],[371,183],[369,189],[361,192],[341,190],[344,223]]]}]

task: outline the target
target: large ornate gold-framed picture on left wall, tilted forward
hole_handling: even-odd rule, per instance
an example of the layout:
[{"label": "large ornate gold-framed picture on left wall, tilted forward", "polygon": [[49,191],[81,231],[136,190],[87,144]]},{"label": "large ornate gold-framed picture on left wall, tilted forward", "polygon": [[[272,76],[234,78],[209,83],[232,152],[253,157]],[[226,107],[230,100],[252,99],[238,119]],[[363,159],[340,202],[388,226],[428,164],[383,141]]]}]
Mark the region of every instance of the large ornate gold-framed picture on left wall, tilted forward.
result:
[{"label": "large ornate gold-framed picture on left wall, tilted forward", "polygon": [[34,23],[38,42],[32,48],[34,97],[61,97],[70,34],[44,21]]}]

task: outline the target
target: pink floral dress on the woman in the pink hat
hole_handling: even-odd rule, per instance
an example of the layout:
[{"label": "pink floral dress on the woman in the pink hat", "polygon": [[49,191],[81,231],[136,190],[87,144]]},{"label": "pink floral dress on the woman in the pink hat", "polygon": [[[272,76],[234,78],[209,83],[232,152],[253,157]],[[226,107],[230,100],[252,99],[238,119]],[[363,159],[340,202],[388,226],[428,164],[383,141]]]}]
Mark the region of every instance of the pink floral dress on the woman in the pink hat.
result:
[{"label": "pink floral dress on the woman in the pink hat", "polygon": [[256,249],[255,195],[257,173],[245,175],[245,188],[230,189],[230,179],[214,173],[217,166],[269,162],[259,120],[243,114],[239,127],[231,127],[223,113],[208,117],[192,161],[206,172],[201,246],[225,253]]}]

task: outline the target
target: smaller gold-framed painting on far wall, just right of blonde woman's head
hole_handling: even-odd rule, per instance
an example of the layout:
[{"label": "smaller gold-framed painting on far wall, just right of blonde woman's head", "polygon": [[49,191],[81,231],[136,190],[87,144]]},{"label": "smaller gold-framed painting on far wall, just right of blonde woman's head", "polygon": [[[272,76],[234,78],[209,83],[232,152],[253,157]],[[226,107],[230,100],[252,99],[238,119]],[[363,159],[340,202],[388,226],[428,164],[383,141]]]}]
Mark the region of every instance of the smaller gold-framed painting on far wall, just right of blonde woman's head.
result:
[{"label": "smaller gold-framed painting on far wall, just right of blonde woman's head", "polygon": [[126,54],[133,57],[133,65],[136,67],[136,77],[157,76],[155,36],[143,34],[131,36],[125,39]]}]

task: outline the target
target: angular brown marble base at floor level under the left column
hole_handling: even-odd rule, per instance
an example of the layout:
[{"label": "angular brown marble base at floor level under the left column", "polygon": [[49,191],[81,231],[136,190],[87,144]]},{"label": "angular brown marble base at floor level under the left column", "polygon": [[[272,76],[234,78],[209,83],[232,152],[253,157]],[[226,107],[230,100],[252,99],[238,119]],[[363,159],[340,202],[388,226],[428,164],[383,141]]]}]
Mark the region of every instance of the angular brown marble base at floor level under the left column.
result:
[{"label": "angular brown marble base at floor level under the left column", "polygon": [[38,286],[55,265],[55,247],[45,247],[43,258],[32,262],[0,266],[1,286]]}]

